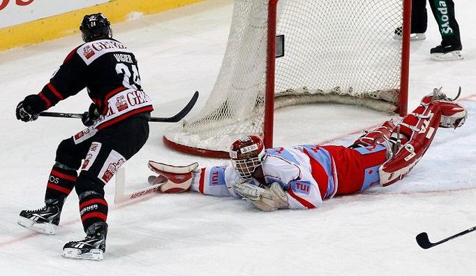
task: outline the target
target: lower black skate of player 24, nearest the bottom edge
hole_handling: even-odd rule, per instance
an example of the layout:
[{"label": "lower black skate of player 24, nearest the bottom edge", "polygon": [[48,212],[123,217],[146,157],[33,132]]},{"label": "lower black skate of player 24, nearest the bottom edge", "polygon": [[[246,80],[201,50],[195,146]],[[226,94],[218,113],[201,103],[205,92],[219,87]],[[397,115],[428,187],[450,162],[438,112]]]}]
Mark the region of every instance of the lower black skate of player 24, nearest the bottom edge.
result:
[{"label": "lower black skate of player 24, nearest the bottom edge", "polygon": [[106,251],[107,224],[96,222],[87,228],[86,238],[68,242],[63,247],[63,254],[66,259],[82,259],[91,261],[101,261],[103,253]]}]

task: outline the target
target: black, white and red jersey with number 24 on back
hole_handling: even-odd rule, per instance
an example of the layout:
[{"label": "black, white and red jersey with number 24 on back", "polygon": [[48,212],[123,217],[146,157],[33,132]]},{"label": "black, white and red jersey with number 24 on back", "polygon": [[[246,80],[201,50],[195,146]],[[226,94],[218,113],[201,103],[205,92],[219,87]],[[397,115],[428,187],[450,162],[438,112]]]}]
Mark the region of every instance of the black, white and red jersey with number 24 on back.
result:
[{"label": "black, white and red jersey with number 24 on back", "polygon": [[44,102],[41,109],[47,110],[85,87],[104,115],[102,127],[154,110],[142,91],[134,54],[112,38],[84,43],[71,51],[38,94]]}]

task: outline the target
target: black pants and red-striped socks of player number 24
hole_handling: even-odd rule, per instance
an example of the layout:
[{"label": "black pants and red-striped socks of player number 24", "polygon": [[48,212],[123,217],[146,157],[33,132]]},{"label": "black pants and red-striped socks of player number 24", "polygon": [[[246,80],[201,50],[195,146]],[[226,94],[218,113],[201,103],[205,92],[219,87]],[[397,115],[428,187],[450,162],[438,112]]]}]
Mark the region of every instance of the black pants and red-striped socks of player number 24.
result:
[{"label": "black pants and red-striped socks of player number 24", "polygon": [[84,230],[96,221],[105,221],[108,209],[104,200],[105,184],[142,148],[148,137],[148,119],[140,116],[100,131],[89,127],[63,140],[47,184],[46,201],[66,198],[75,188],[80,198]]}]

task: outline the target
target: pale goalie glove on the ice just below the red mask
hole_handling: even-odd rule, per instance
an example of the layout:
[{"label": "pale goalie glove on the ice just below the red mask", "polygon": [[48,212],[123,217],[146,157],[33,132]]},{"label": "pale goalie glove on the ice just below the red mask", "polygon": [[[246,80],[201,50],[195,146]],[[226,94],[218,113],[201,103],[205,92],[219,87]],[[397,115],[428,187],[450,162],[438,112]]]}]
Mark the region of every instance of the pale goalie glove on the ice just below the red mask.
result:
[{"label": "pale goalie glove on the ice just below the red mask", "polygon": [[233,189],[243,197],[245,201],[255,205],[256,208],[265,212],[272,212],[278,209],[289,207],[288,196],[283,188],[274,182],[267,189],[260,188],[255,185],[243,183],[233,184]]}]

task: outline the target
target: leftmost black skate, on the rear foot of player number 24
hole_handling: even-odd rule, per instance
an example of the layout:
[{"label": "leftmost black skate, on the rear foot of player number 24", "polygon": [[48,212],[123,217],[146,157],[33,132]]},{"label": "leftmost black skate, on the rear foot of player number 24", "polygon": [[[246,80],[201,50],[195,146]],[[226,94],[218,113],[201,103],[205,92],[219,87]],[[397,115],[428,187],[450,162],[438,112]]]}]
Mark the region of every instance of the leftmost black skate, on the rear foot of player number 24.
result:
[{"label": "leftmost black skate, on the rear foot of player number 24", "polygon": [[18,224],[38,233],[54,235],[56,233],[55,228],[59,224],[64,199],[47,200],[45,201],[45,207],[38,210],[22,210],[20,217],[18,217]]}]

